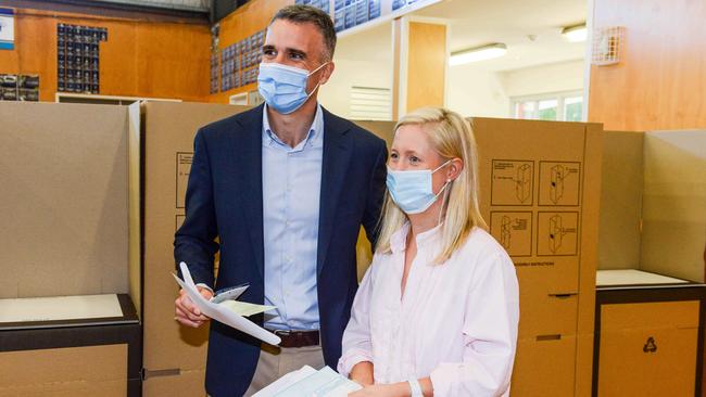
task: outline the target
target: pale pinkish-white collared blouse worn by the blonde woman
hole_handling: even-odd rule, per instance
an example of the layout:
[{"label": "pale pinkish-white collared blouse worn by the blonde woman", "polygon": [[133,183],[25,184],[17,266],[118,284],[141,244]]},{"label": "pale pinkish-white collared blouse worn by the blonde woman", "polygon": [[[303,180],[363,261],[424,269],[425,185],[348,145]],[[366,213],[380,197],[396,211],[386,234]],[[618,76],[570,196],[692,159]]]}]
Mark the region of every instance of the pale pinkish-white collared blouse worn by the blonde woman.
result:
[{"label": "pale pinkish-white collared blouse worn by the blonde woman", "polygon": [[353,302],[338,371],[374,363],[376,383],[431,377],[436,397],[508,396],[519,297],[515,267],[486,231],[474,229],[444,264],[440,227],[417,235],[401,293],[408,223],[376,254]]}]

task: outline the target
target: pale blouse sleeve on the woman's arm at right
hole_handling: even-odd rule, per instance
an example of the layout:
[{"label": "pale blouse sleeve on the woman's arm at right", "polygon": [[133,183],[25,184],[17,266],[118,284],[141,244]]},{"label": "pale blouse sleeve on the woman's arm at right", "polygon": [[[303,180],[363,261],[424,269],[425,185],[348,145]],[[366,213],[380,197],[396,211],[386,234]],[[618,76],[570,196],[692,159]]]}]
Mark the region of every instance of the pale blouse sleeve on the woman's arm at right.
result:
[{"label": "pale blouse sleeve on the woman's arm at right", "polygon": [[509,387],[519,321],[519,287],[505,253],[480,259],[465,302],[462,362],[431,372],[434,397],[502,396]]}]

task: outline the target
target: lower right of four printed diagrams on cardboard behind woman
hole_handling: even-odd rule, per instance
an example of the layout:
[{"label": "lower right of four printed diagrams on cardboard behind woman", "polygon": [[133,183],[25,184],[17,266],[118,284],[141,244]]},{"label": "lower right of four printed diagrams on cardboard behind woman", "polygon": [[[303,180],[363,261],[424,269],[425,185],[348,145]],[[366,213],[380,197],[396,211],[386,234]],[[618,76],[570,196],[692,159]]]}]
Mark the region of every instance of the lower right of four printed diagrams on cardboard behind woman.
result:
[{"label": "lower right of four printed diagrams on cardboard behind woman", "polygon": [[577,255],[578,221],[579,213],[539,213],[537,255]]}]

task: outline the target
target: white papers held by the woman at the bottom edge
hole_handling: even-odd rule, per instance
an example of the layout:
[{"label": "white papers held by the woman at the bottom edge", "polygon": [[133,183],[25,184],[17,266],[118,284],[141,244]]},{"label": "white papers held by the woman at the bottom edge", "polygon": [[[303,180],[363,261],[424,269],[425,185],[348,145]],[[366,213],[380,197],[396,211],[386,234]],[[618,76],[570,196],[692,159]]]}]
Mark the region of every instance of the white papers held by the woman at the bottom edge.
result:
[{"label": "white papers held by the woman at the bottom edge", "polygon": [[345,397],[360,389],[361,385],[329,367],[316,371],[304,366],[255,393],[253,397]]}]

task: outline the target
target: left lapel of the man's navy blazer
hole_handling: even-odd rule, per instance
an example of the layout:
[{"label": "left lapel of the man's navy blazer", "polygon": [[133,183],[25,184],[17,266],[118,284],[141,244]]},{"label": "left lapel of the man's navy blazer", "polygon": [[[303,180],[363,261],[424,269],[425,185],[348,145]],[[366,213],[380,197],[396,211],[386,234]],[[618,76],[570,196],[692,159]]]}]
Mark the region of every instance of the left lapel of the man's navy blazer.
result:
[{"label": "left lapel of the man's navy blazer", "polygon": [[[264,232],[263,232],[263,187],[262,187],[262,128],[263,105],[260,105],[248,115],[238,119],[242,133],[232,133],[234,145],[232,167],[239,176],[240,203],[245,214],[247,227],[255,253],[255,260],[260,277],[264,277]],[[236,155],[240,153],[240,156]]]}]

